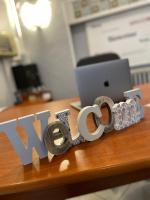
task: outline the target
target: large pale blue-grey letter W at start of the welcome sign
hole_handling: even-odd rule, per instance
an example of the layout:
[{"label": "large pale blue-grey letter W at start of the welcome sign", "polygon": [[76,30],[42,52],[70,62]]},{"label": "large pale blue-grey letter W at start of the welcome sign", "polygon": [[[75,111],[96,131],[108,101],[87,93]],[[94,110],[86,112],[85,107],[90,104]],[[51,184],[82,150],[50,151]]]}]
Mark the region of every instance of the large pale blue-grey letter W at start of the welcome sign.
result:
[{"label": "large pale blue-grey letter W at start of the welcome sign", "polygon": [[[22,118],[4,123],[0,123],[0,132],[5,132],[14,149],[20,156],[24,165],[32,163],[32,149],[35,148],[39,157],[44,158],[47,156],[48,151],[45,148],[43,141],[40,140],[35,132],[33,122],[37,119],[41,122],[41,138],[43,137],[43,132],[48,125],[48,119],[50,117],[49,111],[44,111],[41,113],[36,113],[36,118],[34,115],[24,116]],[[17,123],[22,126],[28,135],[28,147],[25,148],[21,139],[17,133],[16,127]]]}]

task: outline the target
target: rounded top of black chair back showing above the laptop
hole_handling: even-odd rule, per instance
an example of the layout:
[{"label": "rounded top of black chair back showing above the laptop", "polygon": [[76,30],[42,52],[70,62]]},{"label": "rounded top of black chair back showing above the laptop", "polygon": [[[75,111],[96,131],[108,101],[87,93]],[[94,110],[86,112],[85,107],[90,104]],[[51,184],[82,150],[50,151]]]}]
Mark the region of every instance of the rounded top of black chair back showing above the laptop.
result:
[{"label": "rounded top of black chair back showing above the laptop", "polygon": [[86,58],[82,58],[81,60],[78,61],[77,67],[100,63],[100,62],[111,61],[111,60],[116,60],[116,59],[120,59],[120,57],[116,53],[106,53],[106,54],[86,57]]}]

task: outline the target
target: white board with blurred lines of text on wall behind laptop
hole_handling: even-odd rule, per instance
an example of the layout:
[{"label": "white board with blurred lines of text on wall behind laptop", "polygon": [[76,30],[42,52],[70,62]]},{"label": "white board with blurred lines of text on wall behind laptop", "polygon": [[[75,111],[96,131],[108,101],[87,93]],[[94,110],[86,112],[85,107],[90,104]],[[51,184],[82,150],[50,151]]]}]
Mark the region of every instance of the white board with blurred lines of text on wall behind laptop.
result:
[{"label": "white board with blurred lines of text on wall behind laptop", "polygon": [[90,55],[115,52],[131,66],[150,64],[150,13],[89,22],[86,34]]}]

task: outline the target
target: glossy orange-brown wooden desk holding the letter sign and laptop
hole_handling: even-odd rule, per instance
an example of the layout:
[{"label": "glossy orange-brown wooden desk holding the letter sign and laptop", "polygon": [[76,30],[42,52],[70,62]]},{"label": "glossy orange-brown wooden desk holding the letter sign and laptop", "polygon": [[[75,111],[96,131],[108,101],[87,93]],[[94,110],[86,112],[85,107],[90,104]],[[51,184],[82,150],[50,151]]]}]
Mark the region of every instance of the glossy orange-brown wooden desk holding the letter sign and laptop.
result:
[{"label": "glossy orange-brown wooden desk holding the letter sign and laptop", "polygon": [[[150,102],[150,85],[141,86]],[[68,99],[35,106],[16,106],[0,114],[0,121],[49,109],[71,110],[71,130],[76,133],[78,111]],[[36,124],[39,128],[39,124]],[[24,135],[22,134],[22,137]],[[150,178],[150,108],[145,119],[120,132],[113,131],[94,142],[82,143],[66,154],[23,166],[4,134],[0,135],[0,199],[64,199]],[[30,198],[29,198],[30,197]]]}]

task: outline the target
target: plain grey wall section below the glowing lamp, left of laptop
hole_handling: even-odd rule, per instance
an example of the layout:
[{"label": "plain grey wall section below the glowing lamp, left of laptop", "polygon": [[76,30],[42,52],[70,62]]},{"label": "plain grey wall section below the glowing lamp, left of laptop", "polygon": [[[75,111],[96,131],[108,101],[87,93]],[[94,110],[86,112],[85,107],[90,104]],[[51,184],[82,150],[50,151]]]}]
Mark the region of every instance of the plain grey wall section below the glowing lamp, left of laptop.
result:
[{"label": "plain grey wall section below the glowing lamp, left of laptop", "polygon": [[78,95],[62,3],[52,0],[52,22],[47,29],[32,32],[22,25],[28,56],[38,64],[42,81],[52,91],[54,99]]}]

